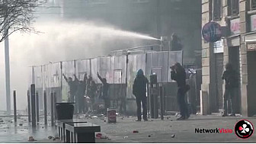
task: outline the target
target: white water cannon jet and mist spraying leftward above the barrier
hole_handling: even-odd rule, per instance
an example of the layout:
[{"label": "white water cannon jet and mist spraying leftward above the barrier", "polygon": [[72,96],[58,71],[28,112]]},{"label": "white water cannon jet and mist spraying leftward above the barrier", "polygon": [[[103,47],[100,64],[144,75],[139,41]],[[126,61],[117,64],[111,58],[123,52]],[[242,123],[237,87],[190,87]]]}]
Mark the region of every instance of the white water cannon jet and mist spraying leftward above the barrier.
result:
[{"label": "white water cannon jet and mist spraying leftward above the barrier", "polygon": [[[106,55],[112,50],[158,43],[158,39],[111,26],[93,23],[49,22],[34,27],[41,34],[13,34],[10,37],[11,90],[17,90],[18,109],[25,109],[30,68],[49,62]],[[4,47],[0,46],[4,59]],[[4,68],[4,61],[0,61]],[[0,94],[5,95],[5,73],[0,71]],[[5,97],[0,109],[5,109]]]}]

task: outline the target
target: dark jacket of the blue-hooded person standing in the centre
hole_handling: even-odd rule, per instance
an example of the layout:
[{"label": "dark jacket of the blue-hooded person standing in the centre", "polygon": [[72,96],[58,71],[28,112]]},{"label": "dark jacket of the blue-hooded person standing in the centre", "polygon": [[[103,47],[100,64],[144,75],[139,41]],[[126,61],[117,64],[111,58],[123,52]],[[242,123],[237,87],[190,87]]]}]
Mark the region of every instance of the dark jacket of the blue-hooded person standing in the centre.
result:
[{"label": "dark jacket of the blue-hooded person standing in the centre", "polygon": [[133,82],[133,94],[135,97],[146,97],[146,87],[149,83],[144,75],[137,75]]}]

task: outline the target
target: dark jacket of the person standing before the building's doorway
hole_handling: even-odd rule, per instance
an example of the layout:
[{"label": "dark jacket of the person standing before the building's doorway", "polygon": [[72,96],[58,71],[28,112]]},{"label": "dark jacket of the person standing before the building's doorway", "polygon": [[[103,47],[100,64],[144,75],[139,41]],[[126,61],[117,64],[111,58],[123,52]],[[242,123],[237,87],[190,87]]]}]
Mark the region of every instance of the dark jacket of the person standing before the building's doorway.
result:
[{"label": "dark jacket of the person standing before the building's doorway", "polygon": [[235,72],[235,70],[226,70],[223,72],[222,79],[225,79],[226,88],[238,88],[238,74]]}]

